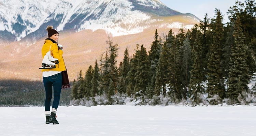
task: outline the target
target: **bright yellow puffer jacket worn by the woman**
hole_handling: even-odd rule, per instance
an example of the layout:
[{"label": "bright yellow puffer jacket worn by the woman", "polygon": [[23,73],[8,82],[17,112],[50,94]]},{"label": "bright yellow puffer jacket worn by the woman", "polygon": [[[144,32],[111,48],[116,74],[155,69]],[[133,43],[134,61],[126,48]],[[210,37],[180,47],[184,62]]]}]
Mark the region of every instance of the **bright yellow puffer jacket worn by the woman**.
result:
[{"label": "bright yellow puffer jacket worn by the woman", "polygon": [[42,72],[43,71],[65,71],[66,66],[62,57],[63,51],[58,49],[58,44],[54,40],[49,38],[45,39],[44,45],[42,47],[42,57],[44,58],[44,56],[46,55],[46,52],[50,50],[50,46],[51,46],[51,55],[53,56],[53,58],[58,59],[59,63],[56,64],[56,68],[43,69]]}]

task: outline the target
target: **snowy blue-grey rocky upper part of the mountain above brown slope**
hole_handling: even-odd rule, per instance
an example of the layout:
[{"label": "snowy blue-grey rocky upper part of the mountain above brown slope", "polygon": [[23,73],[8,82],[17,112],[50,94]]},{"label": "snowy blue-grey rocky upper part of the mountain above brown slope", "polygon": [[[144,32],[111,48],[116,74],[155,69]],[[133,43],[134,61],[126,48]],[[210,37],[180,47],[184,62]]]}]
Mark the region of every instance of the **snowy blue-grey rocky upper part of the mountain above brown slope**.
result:
[{"label": "snowy blue-grey rocky upper part of the mountain above brown slope", "polygon": [[[181,14],[159,0],[2,0],[0,40],[35,42],[45,28],[57,31],[103,29],[113,36],[148,28],[153,16]],[[198,19],[197,17],[191,15]]]}]

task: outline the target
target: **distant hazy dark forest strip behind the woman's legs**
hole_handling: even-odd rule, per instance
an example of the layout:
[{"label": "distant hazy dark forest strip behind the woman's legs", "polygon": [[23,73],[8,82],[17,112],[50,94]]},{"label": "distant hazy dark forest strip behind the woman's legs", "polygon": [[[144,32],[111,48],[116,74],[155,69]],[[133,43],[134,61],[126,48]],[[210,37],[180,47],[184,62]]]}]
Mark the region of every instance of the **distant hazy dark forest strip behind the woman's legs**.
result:
[{"label": "distant hazy dark forest strip behind the woman's legs", "polygon": [[[60,97],[60,106],[68,106],[71,89],[62,89]],[[0,106],[44,106],[44,100],[42,81],[0,80]]]}]

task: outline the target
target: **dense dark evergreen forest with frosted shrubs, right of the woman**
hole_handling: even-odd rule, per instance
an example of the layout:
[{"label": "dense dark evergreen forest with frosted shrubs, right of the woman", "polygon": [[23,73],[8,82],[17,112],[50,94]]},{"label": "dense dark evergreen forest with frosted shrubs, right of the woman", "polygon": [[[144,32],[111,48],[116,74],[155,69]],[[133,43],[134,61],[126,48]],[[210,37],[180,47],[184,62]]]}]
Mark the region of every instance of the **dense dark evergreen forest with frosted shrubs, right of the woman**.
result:
[{"label": "dense dark evergreen forest with frosted shrubs, right of the woman", "polygon": [[109,38],[100,60],[73,81],[71,104],[255,103],[255,5],[237,1],[226,24],[216,9],[215,18],[205,14],[191,30],[174,35],[170,29],[160,37],[156,29],[150,50],[137,44],[135,54],[126,49],[119,64],[118,45]]}]

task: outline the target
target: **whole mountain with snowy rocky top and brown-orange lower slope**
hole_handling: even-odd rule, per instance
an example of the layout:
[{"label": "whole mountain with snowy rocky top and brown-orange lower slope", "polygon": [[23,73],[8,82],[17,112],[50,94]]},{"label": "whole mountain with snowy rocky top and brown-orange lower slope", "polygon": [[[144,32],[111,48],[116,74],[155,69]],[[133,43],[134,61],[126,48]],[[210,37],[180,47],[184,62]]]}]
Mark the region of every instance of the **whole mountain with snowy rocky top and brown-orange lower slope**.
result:
[{"label": "whole mountain with snowy rocky top and brown-orange lower slope", "polygon": [[80,69],[106,51],[108,36],[118,44],[118,62],[125,48],[130,56],[136,44],[149,50],[155,30],[161,37],[200,20],[171,10],[158,0],[2,0],[0,2],[0,79],[41,80],[41,47],[46,27],[60,33],[70,81]]}]

